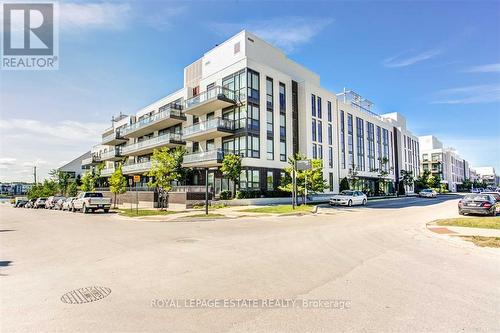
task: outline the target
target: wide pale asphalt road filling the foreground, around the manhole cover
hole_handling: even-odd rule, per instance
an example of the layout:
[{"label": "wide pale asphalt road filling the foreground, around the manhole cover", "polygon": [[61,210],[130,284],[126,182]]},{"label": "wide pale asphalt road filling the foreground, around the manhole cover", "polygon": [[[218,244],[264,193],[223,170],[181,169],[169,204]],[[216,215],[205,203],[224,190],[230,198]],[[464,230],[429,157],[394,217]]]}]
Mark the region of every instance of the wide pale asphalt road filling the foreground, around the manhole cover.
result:
[{"label": "wide pale asphalt road filling the foreground, around the manhole cover", "polygon": [[[498,331],[500,251],[425,228],[456,216],[456,201],[182,223],[0,205],[0,331]],[[61,301],[89,286],[111,293]],[[269,302],[196,308],[157,299]],[[273,299],[333,308],[270,308]]]}]

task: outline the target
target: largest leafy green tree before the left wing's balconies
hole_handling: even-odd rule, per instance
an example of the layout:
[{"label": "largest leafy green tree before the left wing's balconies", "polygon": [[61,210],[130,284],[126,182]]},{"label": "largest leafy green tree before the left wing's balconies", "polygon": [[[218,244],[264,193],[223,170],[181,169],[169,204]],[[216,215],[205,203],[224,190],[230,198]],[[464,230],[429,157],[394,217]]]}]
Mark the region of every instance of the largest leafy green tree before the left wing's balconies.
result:
[{"label": "largest leafy green tree before the left wing's balconies", "polygon": [[151,169],[148,173],[148,176],[153,177],[153,180],[148,185],[169,192],[172,188],[172,182],[180,181],[184,175],[182,160],[185,152],[184,147],[155,149],[151,158]]}]

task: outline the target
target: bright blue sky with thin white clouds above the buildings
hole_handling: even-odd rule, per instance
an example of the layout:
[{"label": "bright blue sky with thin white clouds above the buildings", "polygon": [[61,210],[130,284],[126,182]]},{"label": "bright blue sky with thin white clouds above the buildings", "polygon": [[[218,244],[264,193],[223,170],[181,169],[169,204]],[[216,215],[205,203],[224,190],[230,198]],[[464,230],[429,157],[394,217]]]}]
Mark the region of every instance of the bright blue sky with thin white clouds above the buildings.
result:
[{"label": "bright blue sky with thin white clouds above the buildings", "polygon": [[41,177],[248,29],[379,113],[500,171],[500,2],[60,2],[58,71],[0,72],[0,180]]}]

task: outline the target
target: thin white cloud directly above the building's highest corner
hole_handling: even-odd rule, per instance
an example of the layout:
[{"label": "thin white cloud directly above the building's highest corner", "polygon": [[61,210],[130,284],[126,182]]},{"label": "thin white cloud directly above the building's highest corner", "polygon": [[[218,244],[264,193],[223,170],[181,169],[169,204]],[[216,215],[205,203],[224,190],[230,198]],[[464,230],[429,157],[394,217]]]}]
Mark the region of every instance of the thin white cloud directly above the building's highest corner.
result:
[{"label": "thin white cloud directly above the building's highest corner", "polygon": [[212,28],[223,36],[246,29],[271,44],[292,52],[311,41],[333,21],[332,18],[280,17],[241,23],[213,23]]}]

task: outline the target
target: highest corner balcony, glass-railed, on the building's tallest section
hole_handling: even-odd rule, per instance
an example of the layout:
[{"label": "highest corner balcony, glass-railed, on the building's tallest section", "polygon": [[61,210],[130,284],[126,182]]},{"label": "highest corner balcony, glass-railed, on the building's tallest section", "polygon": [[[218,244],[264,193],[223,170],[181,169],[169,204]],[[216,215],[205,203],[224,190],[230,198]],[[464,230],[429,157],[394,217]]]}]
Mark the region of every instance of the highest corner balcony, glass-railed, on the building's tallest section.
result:
[{"label": "highest corner balcony, glass-railed, on the building's tallest section", "polygon": [[234,91],[216,86],[186,100],[185,112],[199,117],[234,105],[236,101],[237,96]]}]

